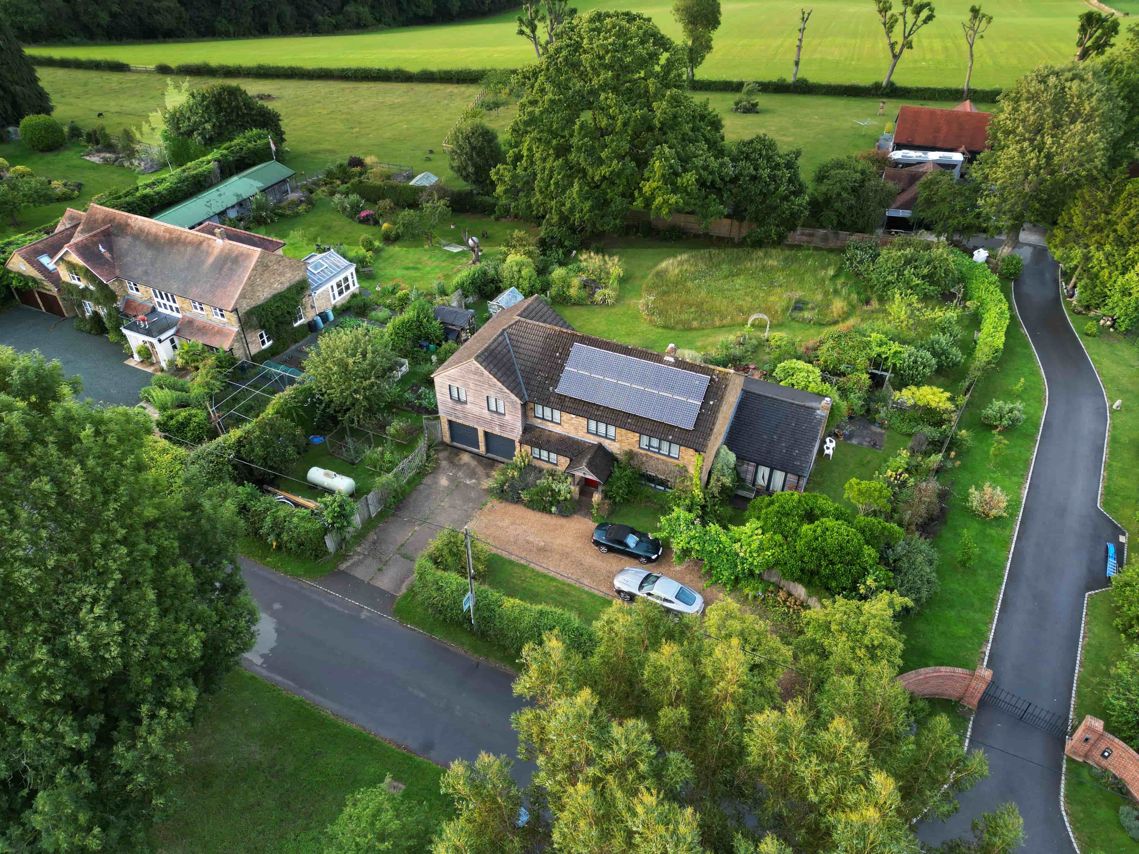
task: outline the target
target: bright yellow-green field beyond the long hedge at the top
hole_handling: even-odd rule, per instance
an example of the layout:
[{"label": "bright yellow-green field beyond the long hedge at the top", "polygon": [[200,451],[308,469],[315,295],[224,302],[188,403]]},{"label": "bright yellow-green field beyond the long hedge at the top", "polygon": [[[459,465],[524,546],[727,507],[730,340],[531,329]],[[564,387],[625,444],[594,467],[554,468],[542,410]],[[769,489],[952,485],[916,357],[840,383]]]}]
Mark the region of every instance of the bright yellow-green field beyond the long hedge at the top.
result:
[{"label": "bright yellow-green field beyond the long hedge at the top", "polygon": [[[915,39],[894,79],[899,83],[954,85],[964,82],[967,49],[959,22],[972,0],[939,0],[937,17]],[[1130,0],[1123,0],[1124,3]],[[790,0],[722,3],[714,49],[697,75],[710,79],[790,77],[802,3]],[[670,36],[680,28],[665,0],[583,0],[579,11],[632,9],[652,17]],[[896,3],[895,3],[896,7]],[[803,43],[800,74],[814,81],[872,83],[886,72],[888,52],[869,0],[818,0]],[[986,6],[995,22],[977,43],[973,83],[1007,85],[1041,63],[1071,58],[1079,0],[999,0]],[[306,66],[400,66],[404,68],[517,67],[533,48],[515,35],[516,11],[456,24],[402,27],[347,35],[194,41],[182,43],[51,46],[51,56],[155,63],[274,63]]]}]

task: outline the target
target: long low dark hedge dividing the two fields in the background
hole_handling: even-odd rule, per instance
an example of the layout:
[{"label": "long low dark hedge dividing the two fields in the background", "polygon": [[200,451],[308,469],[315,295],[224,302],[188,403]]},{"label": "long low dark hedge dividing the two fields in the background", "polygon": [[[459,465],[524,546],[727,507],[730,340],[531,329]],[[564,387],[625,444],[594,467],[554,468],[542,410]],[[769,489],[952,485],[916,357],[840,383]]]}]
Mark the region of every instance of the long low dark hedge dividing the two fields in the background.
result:
[{"label": "long low dark hedge dividing the two fields in the background", "polygon": [[[58,68],[87,68],[90,71],[129,72],[130,63],[116,59],[77,59],[71,57],[28,54],[32,65]],[[478,83],[490,71],[498,68],[369,68],[367,66],[302,66],[302,65],[228,65],[214,63],[158,63],[155,74],[180,74],[188,77],[270,77],[278,80],[357,80],[378,83]],[[509,68],[515,72],[517,68]],[[761,92],[772,95],[829,95],[847,98],[913,98],[916,100],[951,101],[961,98],[960,87],[907,87],[891,83],[812,83],[809,80],[694,80],[690,89],[696,92],[738,92],[745,83],[755,83]],[[969,96],[978,101],[995,101],[1001,90],[970,89]]]}]

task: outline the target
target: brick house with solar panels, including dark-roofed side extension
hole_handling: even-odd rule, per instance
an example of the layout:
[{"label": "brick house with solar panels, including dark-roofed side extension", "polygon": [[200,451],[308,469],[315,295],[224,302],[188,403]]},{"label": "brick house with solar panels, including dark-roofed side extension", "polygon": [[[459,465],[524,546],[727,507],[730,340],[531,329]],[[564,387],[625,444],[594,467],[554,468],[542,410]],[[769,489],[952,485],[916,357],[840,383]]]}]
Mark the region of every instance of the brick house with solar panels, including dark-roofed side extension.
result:
[{"label": "brick house with solar panels, including dark-roofed side extension", "polygon": [[659,488],[685,474],[706,483],[728,444],[749,494],[802,491],[830,408],[678,359],[672,346],[656,353],[583,335],[539,297],[498,312],[433,378],[445,442],[499,460],[522,446],[535,466],[591,487],[625,452]]}]

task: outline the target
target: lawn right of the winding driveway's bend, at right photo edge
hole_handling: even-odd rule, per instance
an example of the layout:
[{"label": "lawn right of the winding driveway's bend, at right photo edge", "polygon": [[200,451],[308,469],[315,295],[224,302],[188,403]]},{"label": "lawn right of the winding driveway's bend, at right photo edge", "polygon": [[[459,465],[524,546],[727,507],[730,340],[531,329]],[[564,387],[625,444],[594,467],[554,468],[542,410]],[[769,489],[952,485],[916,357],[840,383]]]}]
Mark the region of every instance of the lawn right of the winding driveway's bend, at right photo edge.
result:
[{"label": "lawn right of the winding driveway's bend, at right photo edge", "polygon": [[[1074,313],[1067,299],[1064,306],[1099,372],[1108,402],[1123,401],[1121,409],[1108,410],[1112,433],[1107,443],[1104,509],[1126,528],[1129,543],[1139,543],[1139,488],[1136,481],[1136,473],[1139,471],[1139,407],[1131,394],[1139,383],[1139,347],[1115,332],[1104,332],[1098,338],[1088,337],[1083,334],[1088,317]],[[1128,552],[1130,559],[1130,549]]]}]

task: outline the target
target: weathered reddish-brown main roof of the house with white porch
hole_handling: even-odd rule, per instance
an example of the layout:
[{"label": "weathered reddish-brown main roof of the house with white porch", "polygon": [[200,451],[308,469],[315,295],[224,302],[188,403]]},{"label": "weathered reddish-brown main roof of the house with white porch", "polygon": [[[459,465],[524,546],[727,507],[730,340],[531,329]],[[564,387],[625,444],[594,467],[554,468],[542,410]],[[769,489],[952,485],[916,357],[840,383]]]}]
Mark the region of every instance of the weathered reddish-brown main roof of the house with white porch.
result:
[{"label": "weathered reddish-brown main roof of the house with white porch", "polygon": [[305,278],[303,261],[236,240],[95,204],[81,216],[66,249],[105,281],[129,279],[232,311],[247,286],[279,289]]}]

